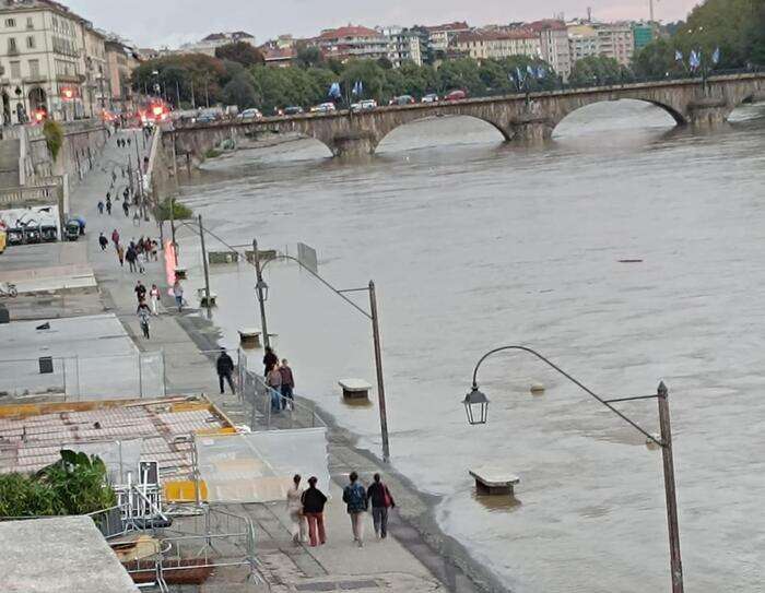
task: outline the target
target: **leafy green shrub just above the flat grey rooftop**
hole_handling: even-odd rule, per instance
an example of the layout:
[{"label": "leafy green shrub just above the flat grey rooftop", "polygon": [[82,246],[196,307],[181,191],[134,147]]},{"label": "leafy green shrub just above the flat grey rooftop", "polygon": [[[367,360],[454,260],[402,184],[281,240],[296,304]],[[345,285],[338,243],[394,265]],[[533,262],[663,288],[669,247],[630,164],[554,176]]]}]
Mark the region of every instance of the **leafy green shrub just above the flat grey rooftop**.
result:
[{"label": "leafy green shrub just above the flat grey rooftop", "polygon": [[106,466],[93,455],[61,451],[61,459],[35,475],[0,475],[0,517],[86,514],[113,507]]}]

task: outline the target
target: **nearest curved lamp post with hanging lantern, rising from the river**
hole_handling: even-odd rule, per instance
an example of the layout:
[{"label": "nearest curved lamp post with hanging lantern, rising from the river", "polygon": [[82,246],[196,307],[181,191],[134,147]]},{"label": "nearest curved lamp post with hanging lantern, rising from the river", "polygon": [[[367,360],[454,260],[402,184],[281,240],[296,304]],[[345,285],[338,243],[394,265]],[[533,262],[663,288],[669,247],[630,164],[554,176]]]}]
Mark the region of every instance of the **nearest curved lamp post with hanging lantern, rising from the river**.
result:
[{"label": "nearest curved lamp post with hanging lantern, rising from the river", "polygon": [[[563,375],[566,379],[576,384],[579,389],[585,391],[588,395],[597,400],[600,404],[608,407],[611,412],[616,414],[629,426],[635,428],[638,432],[642,432],[648,441],[661,447],[661,453],[663,459],[663,472],[664,472],[664,495],[667,498],[667,523],[669,531],[669,543],[670,543],[670,570],[672,576],[672,593],[683,593],[683,564],[680,557],[680,531],[678,527],[678,499],[675,496],[674,487],[674,464],[672,461],[672,430],[670,426],[670,413],[669,413],[669,392],[667,386],[663,381],[659,383],[657,392],[655,395],[638,395],[634,398],[621,398],[615,400],[605,400],[595,393],[592,390],[587,388],[580,381],[568,375],[566,371],[561,369],[557,365],[550,361],[548,358],[539,354],[538,352],[528,348],[526,346],[502,346],[484,354],[475,365],[473,370],[473,384],[462,401],[464,404],[464,410],[468,415],[468,422],[471,425],[486,424],[489,416],[489,398],[479,390],[478,386],[478,371],[483,361],[496,354],[498,352],[505,351],[521,351],[532,356],[536,356],[542,360],[549,367],[552,367],[558,373]],[[654,435],[648,432],[646,429],[640,427],[637,423],[627,418],[619,410],[616,410],[613,404],[619,402],[631,402],[636,400],[654,400],[656,399],[659,404],[659,427],[661,430],[661,436],[657,439]]]}]

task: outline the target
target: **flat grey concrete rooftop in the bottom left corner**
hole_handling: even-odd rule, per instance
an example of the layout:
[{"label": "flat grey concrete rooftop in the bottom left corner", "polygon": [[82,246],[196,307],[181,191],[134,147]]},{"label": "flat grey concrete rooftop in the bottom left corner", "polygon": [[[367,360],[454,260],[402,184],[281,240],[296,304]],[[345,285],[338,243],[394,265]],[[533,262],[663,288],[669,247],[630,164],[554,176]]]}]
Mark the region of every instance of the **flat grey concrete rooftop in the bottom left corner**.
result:
[{"label": "flat grey concrete rooftop in the bottom left corner", "polygon": [[0,522],[0,574],[7,592],[139,591],[90,517]]}]

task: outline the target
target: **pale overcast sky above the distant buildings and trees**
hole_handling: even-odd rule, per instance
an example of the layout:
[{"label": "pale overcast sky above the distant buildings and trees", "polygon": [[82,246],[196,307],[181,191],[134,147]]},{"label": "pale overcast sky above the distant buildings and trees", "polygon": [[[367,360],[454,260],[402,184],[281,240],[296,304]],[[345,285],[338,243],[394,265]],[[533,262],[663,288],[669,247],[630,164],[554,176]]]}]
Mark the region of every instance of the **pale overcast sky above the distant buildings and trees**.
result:
[{"label": "pale overcast sky above the distant buildings and trees", "polygon": [[[649,0],[61,0],[96,27],[141,47],[175,47],[209,33],[246,31],[258,43],[298,37],[348,24],[412,25],[468,21],[471,25],[545,19],[563,12],[599,20],[647,19]],[[655,0],[656,17],[683,19],[699,0]],[[117,8],[119,7],[119,8]]]}]

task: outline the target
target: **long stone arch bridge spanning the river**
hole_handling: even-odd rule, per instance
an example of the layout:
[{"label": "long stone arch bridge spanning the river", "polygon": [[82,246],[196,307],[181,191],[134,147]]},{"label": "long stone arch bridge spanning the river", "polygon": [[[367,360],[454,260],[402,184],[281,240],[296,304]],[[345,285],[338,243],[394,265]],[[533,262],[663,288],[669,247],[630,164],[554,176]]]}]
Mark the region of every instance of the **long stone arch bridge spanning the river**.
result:
[{"label": "long stone arch bridge spanning the river", "polygon": [[742,103],[765,99],[765,72],[711,76],[701,80],[667,80],[481,97],[457,102],[379,107],[349,114],[303,114],[257,121],[222,121],[176,124],[163,133],[163,146],[175,158],[200,158],[226,139],[257,133],[298,133],[315,138],[336,156],[372,154],[393,129],[412,121],[439,116],[469,116],[486,121],[507,141],[541,141],[570,112],[600,102],[637,99],[656,105],[679,126],[713,126],[723,122]]}]

